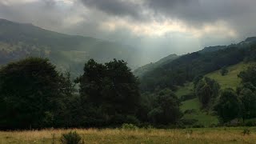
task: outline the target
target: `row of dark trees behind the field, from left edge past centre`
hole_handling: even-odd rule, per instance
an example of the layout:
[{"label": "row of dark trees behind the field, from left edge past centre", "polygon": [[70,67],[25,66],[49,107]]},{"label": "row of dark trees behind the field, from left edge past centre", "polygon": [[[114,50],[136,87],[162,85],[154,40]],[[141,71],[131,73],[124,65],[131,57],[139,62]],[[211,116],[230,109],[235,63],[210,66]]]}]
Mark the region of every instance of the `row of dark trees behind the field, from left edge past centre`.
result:
[{"label": "row of dark trees behind the field, from left edge past centre", "polygon": [[48,59],[26,58],[0,69],[0,129],[175,125],[180,102],[166,89],[142,97],[126,62],[90,60],[83,74],[59,73]]}]

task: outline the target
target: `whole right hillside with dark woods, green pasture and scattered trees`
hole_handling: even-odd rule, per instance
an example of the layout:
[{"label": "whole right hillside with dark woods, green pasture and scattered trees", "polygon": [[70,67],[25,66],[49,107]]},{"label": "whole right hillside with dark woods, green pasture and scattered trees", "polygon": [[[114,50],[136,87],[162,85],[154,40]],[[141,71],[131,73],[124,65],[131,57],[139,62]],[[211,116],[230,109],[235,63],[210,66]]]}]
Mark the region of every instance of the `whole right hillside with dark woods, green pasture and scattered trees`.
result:
[{"label": "whole right hillside with dark woods, green pasture and scattered trees", "polygon": [[[254,78],[254,66],[250,66],[256,60],[255,42],[255,38],[246,38],[230,46],[210,46],[158,64],[140,77],[142,98],[154,98],[161,90],[174,91],[181,102],[181,119],[186,126],[217,126],[221,123],[237,126],[239,118],[255,123],[250,122],[254,114],[242,116],[246,113],[242,109],[244,105],[250,106],[246,106],[247,112],[255,110],[254,82],[250,81]],[[250,77],[247,82],[251,84],[244,82],[243,77]],[[244,98],[244,94],[250,96]],[[246,103],[249,99],[250,103]],[[225,107],[228,102],[241,109]],[[226,114],[222,114],[222,110]],[[232,120],[237,123],[230,122]]]}]

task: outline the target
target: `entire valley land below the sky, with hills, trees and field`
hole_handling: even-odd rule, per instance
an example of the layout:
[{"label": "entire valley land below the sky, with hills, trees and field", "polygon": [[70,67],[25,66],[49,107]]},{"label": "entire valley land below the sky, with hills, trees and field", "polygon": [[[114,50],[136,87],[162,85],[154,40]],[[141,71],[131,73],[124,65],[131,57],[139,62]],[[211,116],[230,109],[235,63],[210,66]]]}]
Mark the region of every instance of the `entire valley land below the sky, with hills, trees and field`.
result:
[{"label": "entire valley land below the sky, with hills, trees and field", "polygon": [[[86,142],[112,134],[111,142],[203,143],[216,130],[226,134],[219,142],[233,142],[247,130],[242,126],[256,126],[255,37],[142,66],[138,51],[115,42],[6,20],[0,32],[0,130],[38,130],[0,132],[2,142],[49,143],[63,127],[87,128],[75,129]],[[49,126],[56,129],[52,138],[31,136]],[[251,142],[253,135],[235,141]]]}]

